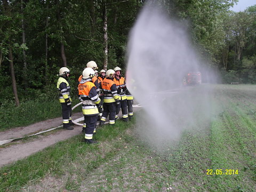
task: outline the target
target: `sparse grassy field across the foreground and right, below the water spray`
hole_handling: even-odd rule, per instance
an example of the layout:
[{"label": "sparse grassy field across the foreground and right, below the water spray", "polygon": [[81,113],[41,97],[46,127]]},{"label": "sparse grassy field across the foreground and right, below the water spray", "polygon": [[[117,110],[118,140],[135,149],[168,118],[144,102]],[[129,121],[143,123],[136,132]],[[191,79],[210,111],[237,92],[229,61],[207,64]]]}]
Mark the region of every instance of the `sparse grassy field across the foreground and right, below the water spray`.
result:
[{"label": "sparse grassy field across the foreground and right, below the water spray", "polygon": [[161,151],[138,137],[136,119],[118,121],[99,129],[99,145],[81,134],[2,167],[0,191],[256,191],[256,86],[191,90],[204,86],[209,121],[199,116]]}]

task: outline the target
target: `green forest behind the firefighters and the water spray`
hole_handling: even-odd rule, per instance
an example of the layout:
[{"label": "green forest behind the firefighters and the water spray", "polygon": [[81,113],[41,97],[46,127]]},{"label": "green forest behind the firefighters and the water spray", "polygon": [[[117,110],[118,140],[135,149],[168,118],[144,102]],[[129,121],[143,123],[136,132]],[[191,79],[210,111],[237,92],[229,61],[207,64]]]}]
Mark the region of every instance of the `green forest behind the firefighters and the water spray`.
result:
[{"label": "green forest behind the firefighters and the water spray", "polygon": [[[6,119],[3,110],[21,103],[58,100],[61,67],[70,69],[72,87],[91,60],[99,70],[125,70],[129,31],[146,2],[0,1],[0,116]],[[256,5],[233,12],[237,0],[151,2],[186,21],[198,57],[221,74],[218,83],[256,83]],[[76,97],[75,88],[71,95]]]}]

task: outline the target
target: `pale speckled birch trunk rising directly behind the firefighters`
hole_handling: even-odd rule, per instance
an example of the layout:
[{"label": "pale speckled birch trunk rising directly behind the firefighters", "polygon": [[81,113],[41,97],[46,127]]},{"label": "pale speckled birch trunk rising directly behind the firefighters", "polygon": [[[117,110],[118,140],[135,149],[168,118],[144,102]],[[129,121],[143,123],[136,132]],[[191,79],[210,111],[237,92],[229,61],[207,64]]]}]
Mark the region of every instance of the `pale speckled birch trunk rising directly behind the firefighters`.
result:
[{"label": "pale speckled birch trunk rising directly behind the firefighters", "polygon": [[106,2],[103,2],[103,42],[104,42],[104,61],[103,69],[107,70],[108,68],[108,18],[107,18],[107,5]]}]

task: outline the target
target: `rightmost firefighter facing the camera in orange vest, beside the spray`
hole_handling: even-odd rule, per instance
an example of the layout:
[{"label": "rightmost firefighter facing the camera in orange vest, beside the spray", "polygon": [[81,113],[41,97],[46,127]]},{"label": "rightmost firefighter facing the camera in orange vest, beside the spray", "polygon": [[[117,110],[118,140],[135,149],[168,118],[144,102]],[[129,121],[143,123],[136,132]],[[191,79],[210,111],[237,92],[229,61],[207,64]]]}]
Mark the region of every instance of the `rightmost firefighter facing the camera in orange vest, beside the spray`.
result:
[{"label": "rightmost firefighter facing the camera in orange vest, beside the spray", "polygon": [[117,89],[117,95],[119,97],[120,103],[116,106],[116,116],[115,118],[118,118],[118,114],[120,109],[122,108],[122,120],[127,122],[128,121],[128,110],[127,110],[127,98],[125,95],[126,91],[126,83],[124,77],[121,76],[121,68],[115,67],[115,77],[114,82],[116,83],[116,89]]}]

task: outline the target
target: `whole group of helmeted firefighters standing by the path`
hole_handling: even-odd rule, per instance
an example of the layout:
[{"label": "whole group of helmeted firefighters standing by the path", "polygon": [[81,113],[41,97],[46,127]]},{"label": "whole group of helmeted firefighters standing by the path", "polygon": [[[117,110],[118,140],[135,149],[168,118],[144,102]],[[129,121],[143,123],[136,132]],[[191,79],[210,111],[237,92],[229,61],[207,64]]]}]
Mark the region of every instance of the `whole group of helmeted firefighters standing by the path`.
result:
[{"label": "whole group of helmeted firefighters standing by the path", "polygon": [[[83,102],[84,115],[82,132],[85,133],[86,143],[97,142],[93,140],[97,119],[102,126],[109,115],[109,124],[114,125],[121,109],[124,122],[129,121],[133,116],[133,97],[126,88],[125,78],[121,76],[121,68],[115,67],[114,70],[107,71],[102,69],[99,76],[97,69],[97,63],[90,61],[78,78],[78,99]],[[70,70],[67,67],[60,68],[57,88],[62,108],[63,127],[73,130],[69,75]]]}]

